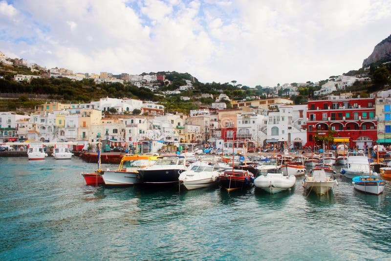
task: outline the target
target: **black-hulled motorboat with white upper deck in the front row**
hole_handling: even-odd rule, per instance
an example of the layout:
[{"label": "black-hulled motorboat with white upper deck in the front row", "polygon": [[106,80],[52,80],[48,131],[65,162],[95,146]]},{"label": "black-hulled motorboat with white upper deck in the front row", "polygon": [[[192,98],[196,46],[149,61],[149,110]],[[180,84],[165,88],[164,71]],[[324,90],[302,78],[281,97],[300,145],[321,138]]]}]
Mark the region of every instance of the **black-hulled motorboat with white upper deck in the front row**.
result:
[{"label": "black-hulled motorboat with white upper deck in the front row", "polygon": [[179,174],[186,171],[184,156],[159,156],[155,164],[138,171],[138,178],[144,184],[169,185],[179,182]]}]

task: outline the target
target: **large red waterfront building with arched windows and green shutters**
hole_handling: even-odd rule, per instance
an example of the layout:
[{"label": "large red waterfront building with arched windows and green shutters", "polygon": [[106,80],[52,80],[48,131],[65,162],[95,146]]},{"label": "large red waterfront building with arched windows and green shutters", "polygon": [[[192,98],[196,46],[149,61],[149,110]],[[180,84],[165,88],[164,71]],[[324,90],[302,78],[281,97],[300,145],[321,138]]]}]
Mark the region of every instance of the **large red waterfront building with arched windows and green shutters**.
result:
[{"label": "large red waterfront building with arched windows and green shutters", "polygon": [[309,101],[307,110],[306,146],[321,145],[315,135],[349,137],[349,147],[373,147],[377,140],[377,119],[374,98],[332,99]]}]

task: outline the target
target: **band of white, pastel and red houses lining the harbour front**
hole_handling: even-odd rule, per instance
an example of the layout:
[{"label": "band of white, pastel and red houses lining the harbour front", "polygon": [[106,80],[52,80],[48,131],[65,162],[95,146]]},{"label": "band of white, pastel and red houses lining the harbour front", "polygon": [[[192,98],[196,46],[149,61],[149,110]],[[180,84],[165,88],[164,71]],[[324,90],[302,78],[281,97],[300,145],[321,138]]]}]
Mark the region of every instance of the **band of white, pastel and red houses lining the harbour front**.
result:
[{"label": "band of white, pastel and red houses lining the harbour front", "polygon": [[[23,140],[96,142],[130,146],[140,141],[168,144],[245,142],[249,151],[269,146],[300,149],[317,137],[349,138],[350,147],[391,143],[391,91],[370,98],[349,93],[306,105],[283,98],[231,101],[231,109],[200,107],[190,114],[165,113],[164,106],[134,99],[102,98],[86,104],[47,103],[30,115],[0,112],[0,142]],[[217,103],[218,104],[218,103]],[[224,103],[225,104],[225,103]],[[109,114],[115,108],[117,114]],[[131,114],[142,110],[139,115]]]}]

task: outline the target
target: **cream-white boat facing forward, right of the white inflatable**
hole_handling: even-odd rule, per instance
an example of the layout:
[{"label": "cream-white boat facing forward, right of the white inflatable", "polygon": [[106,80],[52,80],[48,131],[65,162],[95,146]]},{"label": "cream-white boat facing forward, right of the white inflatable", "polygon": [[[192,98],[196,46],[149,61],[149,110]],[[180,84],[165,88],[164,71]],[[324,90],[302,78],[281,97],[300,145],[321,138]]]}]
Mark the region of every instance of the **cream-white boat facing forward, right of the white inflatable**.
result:
[{"label": "cream-white boat facing forward, right of the white inflatable", "polygon": [[319,195],[328,193],[335,185],[337,180],[327,176],[323,169],[313,169],[312,175],[305,175],[303,179],[303,187],[309,192],[315,192]]}]

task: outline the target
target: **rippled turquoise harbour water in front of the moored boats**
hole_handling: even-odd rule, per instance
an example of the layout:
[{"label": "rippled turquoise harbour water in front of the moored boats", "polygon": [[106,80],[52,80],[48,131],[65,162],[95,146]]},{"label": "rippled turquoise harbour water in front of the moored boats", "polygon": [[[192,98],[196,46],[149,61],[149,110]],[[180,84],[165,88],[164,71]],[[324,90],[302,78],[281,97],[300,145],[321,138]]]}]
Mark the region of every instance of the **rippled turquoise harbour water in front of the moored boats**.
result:
[{"label": "rippled turquoise harbour water in front of the moored boats", "polygon": [[[103,169],[117,166],[104,165]],[[328,196],[84,184],[95,164],[0,158],[0,260],[390,260],[391,187]],[[390,182],[391,183],[391,182]]]}]

